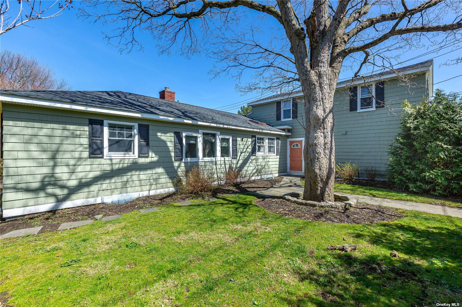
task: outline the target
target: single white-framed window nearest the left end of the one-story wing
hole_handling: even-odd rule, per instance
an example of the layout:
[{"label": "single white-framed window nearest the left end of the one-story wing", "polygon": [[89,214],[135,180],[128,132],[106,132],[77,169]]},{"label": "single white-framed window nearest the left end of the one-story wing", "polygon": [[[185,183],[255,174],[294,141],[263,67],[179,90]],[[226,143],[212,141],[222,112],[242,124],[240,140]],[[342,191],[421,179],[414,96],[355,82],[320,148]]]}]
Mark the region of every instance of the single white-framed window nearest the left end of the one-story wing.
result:
[{"label": "single white-framed window nearest the left end of the one-story wing", "polygon": [[138,157],[138,124],[104,121],[104,159]]}]

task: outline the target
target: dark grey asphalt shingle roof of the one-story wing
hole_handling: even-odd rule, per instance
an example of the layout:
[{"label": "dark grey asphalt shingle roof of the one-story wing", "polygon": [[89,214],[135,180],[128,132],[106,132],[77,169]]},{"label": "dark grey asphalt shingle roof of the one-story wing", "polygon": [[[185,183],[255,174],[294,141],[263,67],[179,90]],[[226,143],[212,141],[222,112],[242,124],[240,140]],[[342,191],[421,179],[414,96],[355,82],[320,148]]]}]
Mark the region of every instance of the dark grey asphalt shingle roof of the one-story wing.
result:
[{"label": "dark grey asphalt shingle roof of the one-story wing", "polygon": [[85,106],[97,106],[117,110],[151,113],[160,116],[192,119],[213,124],[225,124],[243,128],[281,132],[281,130],[276,129],[269,124],[266,126],[255,124],[250,121],[249,117],[243,115],[122,91],[0,89],[0,94],[13,94],[32,98],[70,102]]}]

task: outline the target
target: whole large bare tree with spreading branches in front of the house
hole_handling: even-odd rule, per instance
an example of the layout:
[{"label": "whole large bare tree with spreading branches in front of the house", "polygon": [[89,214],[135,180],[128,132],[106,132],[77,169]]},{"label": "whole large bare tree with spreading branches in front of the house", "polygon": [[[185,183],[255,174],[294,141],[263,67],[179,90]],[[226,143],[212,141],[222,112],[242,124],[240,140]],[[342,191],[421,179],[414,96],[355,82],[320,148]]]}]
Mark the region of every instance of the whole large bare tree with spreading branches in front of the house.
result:
[{"label": "whole large bare tree with spreading branches in front of the house", "polygon": [[79,14],[114,23],[107,38],[121,51],[141,48],[136,33],[149,31],[160,52],[206,52],[217,60],[213,73],[239,79],[255,70],[252,82],[238,85],[243,92],[301,88],[304,199],[333,201],[333,98],[342,65],[359,67],[357,77],[367,65],[391,64],[389,55],[400,50],[454,44],[461,7],[450,0],[120,0],[87,1]]}]

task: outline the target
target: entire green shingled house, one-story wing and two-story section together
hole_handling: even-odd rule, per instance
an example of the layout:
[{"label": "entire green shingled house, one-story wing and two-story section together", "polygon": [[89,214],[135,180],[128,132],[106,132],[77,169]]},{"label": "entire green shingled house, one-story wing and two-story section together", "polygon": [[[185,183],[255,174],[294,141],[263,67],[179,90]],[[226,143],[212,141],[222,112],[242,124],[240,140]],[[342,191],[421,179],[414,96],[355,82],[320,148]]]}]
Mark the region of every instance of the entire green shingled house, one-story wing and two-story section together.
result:
[{"label": "entire green shingled house, one-story wing and two-story section together", "polygon": [[[395,73],[373,75],[374,97],[381,97],[376,84],[393,105],[431,95],[431,62],[401,74],[411,76],[415,86],[401,86]],[[337,161],[382,168],[398,115],[366,97],[357,80],[338,88]],[[355,88],[353,103],[349,90],[354,94]],[[303,171],[304,131],[298,123],[303,100],[297,93],[250,103],[251,118],[177,102],[169,88],[159,98],[121,91],[1,90],[0,103],[3,218],[166,193],[189,165],[211,167],[217,176],[232,165],[253,178]]]}]

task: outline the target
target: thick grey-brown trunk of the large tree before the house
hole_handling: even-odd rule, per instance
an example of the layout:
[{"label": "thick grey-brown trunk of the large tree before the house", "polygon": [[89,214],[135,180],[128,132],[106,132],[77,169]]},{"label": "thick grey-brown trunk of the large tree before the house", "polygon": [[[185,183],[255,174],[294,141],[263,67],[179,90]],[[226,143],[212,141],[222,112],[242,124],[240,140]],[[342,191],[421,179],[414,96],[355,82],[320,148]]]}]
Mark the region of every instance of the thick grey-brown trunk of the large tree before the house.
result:
[{"label": "thick grey-brown trunk of the large tree before the house", "polygon": [[[282,23],[295,59],[305,102],[305,188],[303,199],[334,201],[335,145],[334,92],[341,63],[329,63],[333,35],[322,30],[330,23],[328,2],[317,1],[310,18],[304,20],[306,33],[294,16],[290,1],[278,0]],[[310,38],[307,47],[306,34]]]}]

